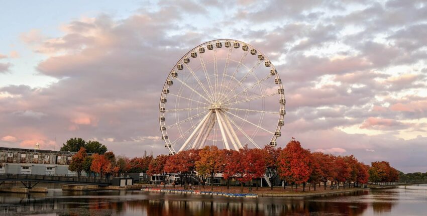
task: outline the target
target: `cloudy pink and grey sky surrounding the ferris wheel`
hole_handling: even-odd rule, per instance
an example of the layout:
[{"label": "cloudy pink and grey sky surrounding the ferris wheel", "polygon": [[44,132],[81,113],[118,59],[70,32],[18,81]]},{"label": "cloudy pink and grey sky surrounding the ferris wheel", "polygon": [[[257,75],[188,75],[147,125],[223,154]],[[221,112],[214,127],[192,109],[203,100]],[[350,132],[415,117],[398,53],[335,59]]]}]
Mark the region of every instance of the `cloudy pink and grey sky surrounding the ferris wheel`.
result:
[{"label": "cloudy pink and grey sky surrounding the ferris wheel", "polygon": [[167,154],[158,103],[186,52],[232,38],[276,66],[278,146],[427,171],[427,2],[1,1],[0,146]]}]

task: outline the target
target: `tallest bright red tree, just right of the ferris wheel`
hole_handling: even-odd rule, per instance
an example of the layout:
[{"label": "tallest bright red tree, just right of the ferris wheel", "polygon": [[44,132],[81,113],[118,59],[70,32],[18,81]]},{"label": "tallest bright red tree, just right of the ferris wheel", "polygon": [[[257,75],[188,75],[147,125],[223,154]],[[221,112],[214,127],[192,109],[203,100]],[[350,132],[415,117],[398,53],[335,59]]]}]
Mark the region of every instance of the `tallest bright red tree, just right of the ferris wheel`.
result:
[{"label": "tallest bright red tree, just right of the ferris wheel", "polygon": [[291,140],[280,153],[279,176],[288,182],[303,183],[303,191],[305,191],[305,182],[311,173],[310,164],[310,152],[303,149],[299,141]]}]

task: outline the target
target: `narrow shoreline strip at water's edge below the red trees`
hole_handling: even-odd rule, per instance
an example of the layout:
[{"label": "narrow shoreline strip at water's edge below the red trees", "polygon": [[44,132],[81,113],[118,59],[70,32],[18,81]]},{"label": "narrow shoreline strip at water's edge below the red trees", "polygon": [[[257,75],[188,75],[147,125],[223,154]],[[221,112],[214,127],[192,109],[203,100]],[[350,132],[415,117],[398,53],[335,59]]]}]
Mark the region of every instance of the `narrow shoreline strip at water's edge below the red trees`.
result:
[{"label": "narrow shoreline strip at water's edge below the red trees", "polygon": [[350,188],[335,191],[322,191],[322,192],[301,192],[301,193],[228,193],[228,192],[216,192],[216,191],[199,191],[199,190],[182,190],[182,189],[168,189],[168,188],[142,188],[141,191],[145,192],[156,192],[156,193],[181,193],[181,194],[198,194],[198,195],[216,195],[216,196],[227,196],[227,197],[309,197],[309,196],[320,196],[329,194],[348,193],[355,191],[369,190],[369,188]]}]

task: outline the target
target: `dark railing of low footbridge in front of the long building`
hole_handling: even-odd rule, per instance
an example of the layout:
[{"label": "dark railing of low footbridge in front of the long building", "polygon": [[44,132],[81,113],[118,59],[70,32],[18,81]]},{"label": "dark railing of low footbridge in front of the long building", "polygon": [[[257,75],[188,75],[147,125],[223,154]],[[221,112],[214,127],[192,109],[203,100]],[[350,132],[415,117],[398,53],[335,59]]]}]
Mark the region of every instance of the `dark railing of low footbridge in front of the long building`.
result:
[{"label": "dark railing of low footbridge in front of the long building", "polygon": [[57,176],[57,175],[35,175],[35,174],[0,174],[0,181],[5,180],[31,180],[31,181],[58,181],[58,182],[76,182],[76,183],[101,183],[110,184],[110,180],[101,178],[87,178],[77,176]]}]

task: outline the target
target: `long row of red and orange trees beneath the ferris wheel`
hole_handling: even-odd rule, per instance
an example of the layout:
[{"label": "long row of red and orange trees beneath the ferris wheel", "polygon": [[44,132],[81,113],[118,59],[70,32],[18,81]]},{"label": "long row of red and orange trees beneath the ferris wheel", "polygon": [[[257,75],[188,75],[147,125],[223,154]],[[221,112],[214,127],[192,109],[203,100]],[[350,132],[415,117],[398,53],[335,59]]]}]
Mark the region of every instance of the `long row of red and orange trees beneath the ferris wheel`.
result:
[{"label": "long row of red and orange trees beneath the ferris wheel", "polygon": [[[284,187],[302,184],[303,191],[306,184],[312,185],[315,190],[316,184],[323,183],[326,189],[328,181],[345,187],[346,184],[364,184],[368,180],[398,180],[399,175],[395,175],[398,171],[388,162],[373,162],[371,165],[359,162],[353,155],[311,153],[302,148],[300,142],[291,140],[283,149],[267,145],[263,149],[244,147],[235,151],[206,146],[203,149],[180,151],[171,156],[159,155],[151,161],[147,172],[149,175],[177,174],[185,188],[194,178],[206,182],[207,178],[213,179],[217,173],[222,173],[228,187],[230,180],[235,179],[241,182],[242,191],[243,182],[256,180],[258,186],[258,180],[264,175],[270,182],[280,178]],[[166,184],[166,181],[164,178],[163,183]],[[213,184],[211,187],[213,190]]]}]

